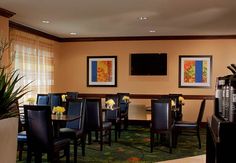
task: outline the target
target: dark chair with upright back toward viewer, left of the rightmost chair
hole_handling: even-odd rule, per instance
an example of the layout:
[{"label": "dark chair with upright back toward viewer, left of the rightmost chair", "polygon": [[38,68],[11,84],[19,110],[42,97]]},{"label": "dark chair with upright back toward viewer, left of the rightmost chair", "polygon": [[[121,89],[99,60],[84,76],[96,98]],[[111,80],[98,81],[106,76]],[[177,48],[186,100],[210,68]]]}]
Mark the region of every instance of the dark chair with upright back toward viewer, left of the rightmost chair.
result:
[{"label": "dark chair with upright back toward viewer, left of the rightmost chair", "polygon": [[155,134],[167,134],[169,136],[169,152],[172,153],[172,130],[173,120],[170,107],[170,99],[151,100],[151,126],[150,126],[150,145],[151,152],[154,147]]}]

